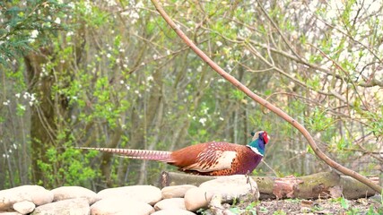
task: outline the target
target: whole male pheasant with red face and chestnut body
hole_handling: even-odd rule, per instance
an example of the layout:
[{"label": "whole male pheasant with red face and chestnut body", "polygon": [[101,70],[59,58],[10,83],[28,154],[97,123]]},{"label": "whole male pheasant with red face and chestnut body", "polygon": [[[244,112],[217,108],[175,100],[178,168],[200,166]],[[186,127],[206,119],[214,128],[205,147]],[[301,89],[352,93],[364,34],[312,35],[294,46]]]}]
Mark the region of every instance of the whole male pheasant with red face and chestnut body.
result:
[{"label": "whole male pheasant with red face and chestnut body", "polygon": [[245,175],[257,168],[264,157],[265,144],[269,141],[265,131],[251,134],[253,138],[246,146],[229,142],[205,142],[174,151],[80,148],[115,153],[130,159],[158,160],[195,175]]}]

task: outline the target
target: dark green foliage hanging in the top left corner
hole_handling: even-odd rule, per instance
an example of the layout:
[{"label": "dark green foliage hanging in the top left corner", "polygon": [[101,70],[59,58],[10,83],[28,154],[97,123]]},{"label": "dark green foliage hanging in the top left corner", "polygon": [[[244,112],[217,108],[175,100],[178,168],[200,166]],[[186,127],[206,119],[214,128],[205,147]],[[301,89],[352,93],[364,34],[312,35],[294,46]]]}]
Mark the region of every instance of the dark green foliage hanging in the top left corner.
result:
[{"label": "dark green foliage hanging in the top left corner", "polygon": [[0,3],[0,64],[9,64],[33,50],[32,43],[47,44],[50,34],[66,28],[61,23],[67,11],[65,4],[56,0],[22,3]]}]

